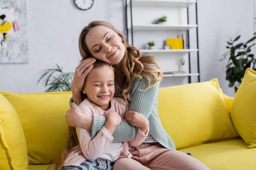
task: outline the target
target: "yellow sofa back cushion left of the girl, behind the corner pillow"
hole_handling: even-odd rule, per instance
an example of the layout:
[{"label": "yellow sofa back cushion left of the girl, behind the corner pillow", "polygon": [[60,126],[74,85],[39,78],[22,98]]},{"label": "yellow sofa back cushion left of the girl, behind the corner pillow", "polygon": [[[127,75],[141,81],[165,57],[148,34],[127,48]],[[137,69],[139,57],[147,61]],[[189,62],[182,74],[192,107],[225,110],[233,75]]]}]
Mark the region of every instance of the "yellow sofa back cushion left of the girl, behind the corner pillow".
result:
[{"label": "yellow sofa back cushion left of the girl, behind the corner pillow", "polygon": [[65,115],[70,108],[71,92],[2,94],[12,103],[20,117],[29,164],[51,164],[58,159],[67,138]]}]

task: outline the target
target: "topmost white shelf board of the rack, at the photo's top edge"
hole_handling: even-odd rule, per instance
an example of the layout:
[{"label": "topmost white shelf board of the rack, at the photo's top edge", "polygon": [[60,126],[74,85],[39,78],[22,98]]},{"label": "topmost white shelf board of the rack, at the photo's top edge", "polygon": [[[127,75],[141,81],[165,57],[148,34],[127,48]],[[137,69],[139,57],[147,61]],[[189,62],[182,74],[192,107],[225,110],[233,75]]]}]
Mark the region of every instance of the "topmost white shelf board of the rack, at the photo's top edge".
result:
[{"label": "topmost white shelf board of the rack, at the photo's top edge", "polygon": [[[157,6],[187,8],[196,3],[196,0],[131,0],[132,6]],[[128,5],[130,1],[128,2]]]}]

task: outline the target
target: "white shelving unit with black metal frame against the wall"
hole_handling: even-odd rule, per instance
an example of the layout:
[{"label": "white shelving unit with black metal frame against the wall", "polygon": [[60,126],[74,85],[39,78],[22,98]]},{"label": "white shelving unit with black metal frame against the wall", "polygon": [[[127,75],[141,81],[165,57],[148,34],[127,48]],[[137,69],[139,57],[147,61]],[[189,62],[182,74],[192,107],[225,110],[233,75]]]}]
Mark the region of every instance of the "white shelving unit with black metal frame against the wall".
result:
[{"label": "white shelving unit with black metal frame against the wall", "polygon": [[[163,77],[188,77],[187,83],[191,83],[191,77],[197,77],[197,82],[200,82],[197,0],[125,0],[125,3],[128,43],[131,42],[130,44],[132,45],[136,44],[135,46],[139,48],[143,54],[151,54],[157,59],[162,59],[163,64],[161,65],[164,70]],[[193,24],[189,22],[189,8],[192,8],[192,6],[195,6],[195,21]],[[161,17],[160,14],[168,16],[167,23],[164,25],[153,24],[156,18]],[[186,49],[165,50],[161,49],[163,48],[162,46],[155,50],[145,49],[146,41],[151,41],[156,38],[160,39],[166,36],[162,39],[163,42],[166,38],[173,38],[175,37],[173,35],[177,36],[177,34],[181,34],[183,31],[186,33],[186,38],[184,39]],[[196,39],[196,46],[192,48],[190,48],[190,40],[192,40],[190,31],[196,32],[196,36],[192,36]],[[149,39],[148,37],[152,38]],[[137,40],[134,41],[134,39]],[[161,45],[160,40],[158,40],[158,44]],[[195,42],[193,42],[193,44],[195,44]],[[196,65],[191,65],[190,53],[192,52],[192,59],[197,60]],[[194,55],[195,53],[196,55]],[[174,58],[180,57],[187,59],[186,74],[165,74],[165,72],[176,71],[168,69],[171,69],[171,64],[174,65]],[[170,63],[170,65],[168,63]],[[197,67],[197,72],[194,67]]]}]

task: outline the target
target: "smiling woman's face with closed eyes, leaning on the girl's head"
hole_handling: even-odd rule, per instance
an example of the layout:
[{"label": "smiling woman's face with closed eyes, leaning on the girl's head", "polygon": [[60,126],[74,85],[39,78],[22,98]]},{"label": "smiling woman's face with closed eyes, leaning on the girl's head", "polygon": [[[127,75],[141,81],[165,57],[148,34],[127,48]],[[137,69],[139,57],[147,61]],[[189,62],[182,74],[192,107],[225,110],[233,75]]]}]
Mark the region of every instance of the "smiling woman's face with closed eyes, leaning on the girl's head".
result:
[{"label": "smiling woman's face with closed eyes, leaning on the girl's head", "polygon": [[110,65],[118,64],[125,54],[122,38],[105,26],[91,28],[85,36],[85,43],[93,57]]}]

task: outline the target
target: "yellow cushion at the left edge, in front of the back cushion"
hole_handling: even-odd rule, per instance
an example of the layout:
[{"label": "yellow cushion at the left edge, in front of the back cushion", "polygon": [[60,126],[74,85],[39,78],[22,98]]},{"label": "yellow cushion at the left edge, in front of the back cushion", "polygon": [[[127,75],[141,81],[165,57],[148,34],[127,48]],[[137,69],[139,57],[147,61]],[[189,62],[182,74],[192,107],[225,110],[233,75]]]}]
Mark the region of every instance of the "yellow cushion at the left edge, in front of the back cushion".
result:
[{"label": "yellow cushion at the left edge, in front of the back cushion", "polygon": [[0,94],[0,170],[28,170],[26,139],[12,104]]}]

